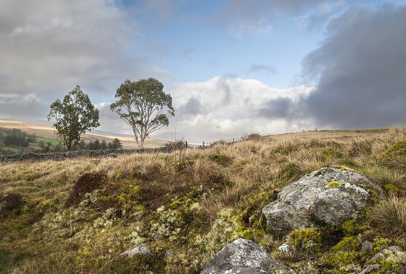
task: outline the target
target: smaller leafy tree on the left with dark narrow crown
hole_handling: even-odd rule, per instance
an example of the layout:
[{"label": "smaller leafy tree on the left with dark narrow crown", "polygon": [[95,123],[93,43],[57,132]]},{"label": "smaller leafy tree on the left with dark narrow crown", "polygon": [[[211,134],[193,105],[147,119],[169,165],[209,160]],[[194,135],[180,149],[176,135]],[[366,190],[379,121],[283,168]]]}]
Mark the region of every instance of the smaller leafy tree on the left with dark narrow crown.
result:
[{"label": "smaller leafy tree on the left with dark narrow crown", "polygon": [[79,86],[65,95],[63,101],[56,99],[47,115],[55,123],[55,134],[67,150],[80,141],[80,135],[100,126],[98,109],[90,102],[89,96]]}]

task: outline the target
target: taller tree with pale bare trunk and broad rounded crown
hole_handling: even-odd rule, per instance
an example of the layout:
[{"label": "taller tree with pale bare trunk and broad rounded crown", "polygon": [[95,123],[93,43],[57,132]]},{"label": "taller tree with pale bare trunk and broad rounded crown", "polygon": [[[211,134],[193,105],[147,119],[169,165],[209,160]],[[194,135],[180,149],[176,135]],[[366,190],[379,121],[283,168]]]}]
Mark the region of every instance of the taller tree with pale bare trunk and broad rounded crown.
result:
[{"label": "taller tree with pale bare trunk and broad rounded crown", "polygon": [[171,94],[163,91],[161,82],[154,78],[137,82],[125,80],[117,89],[116,102],[110,110],[132,128],[132,136],[140,149],[152,132],[169,125],[168,116],[175,116]]}]

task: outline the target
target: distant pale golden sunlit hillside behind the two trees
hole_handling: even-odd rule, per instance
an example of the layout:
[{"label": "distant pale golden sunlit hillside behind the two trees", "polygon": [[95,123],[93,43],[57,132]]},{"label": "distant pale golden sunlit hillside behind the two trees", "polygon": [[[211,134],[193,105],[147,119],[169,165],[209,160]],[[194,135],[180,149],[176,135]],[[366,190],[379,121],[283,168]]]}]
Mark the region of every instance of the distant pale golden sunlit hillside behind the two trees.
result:
[{"label": "distant pale golden sunlit hillside behind the two trees", "polygon": [[[54,140],[57,139],[57,137],[54,134],[54,129],[52,127],[46,127],[41,125],[34,125],[17,121],[0,120],[0,129],[6,130],[19,129],[21,131],[27,132],[28,134],[36,134],[37,136],[41,136],[48,139]],[[95,139],[98,139],[99,141],[105,140],[107,143],[109,143],[114,138],[118,138],[121,141],[124,149],[134,149],[137,147],[136,141],[131,136],[123,136],[122,134],[114,134],[109,132],[100,132],[96,134],[87,132],[81,136],[81,139],[85,140],[85,142],[90,142],[94,141]],[[166,143],[166,141],[164,140],[147,139],[145,141],[144,146],[146,148],[156,148],[163,146],[164,143]]]}]

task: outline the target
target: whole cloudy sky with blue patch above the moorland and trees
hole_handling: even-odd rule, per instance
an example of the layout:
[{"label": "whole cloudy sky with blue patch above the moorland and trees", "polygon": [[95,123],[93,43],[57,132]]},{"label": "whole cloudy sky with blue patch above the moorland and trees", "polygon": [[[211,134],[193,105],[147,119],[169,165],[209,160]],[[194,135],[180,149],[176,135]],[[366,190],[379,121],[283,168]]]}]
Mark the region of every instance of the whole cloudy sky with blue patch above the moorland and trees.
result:
[{"label": "whole cloudy sky with blue patch above the moorland and trees", "polygon": [[129,134],[110,104],[148,77],[175,108],[156,139],[406,126],[406,2],[0,0],[0,119],[79,85]]}]

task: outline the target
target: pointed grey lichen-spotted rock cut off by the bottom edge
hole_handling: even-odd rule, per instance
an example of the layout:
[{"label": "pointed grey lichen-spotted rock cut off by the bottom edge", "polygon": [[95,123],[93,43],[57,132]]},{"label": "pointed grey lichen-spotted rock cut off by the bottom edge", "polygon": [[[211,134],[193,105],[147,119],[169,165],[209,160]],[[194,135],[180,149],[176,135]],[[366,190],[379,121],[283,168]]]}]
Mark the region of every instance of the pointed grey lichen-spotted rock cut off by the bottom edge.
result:
[{"label": "pointed grey lichen-spotted rock cut off by the bottom edge", "polygon": [[277,269],[289,269],[289,267],[278,263],[257,244],[240,238],[217,252],[200,274],[248,274],[259,273],[260,270],[273,271]]}]

